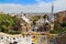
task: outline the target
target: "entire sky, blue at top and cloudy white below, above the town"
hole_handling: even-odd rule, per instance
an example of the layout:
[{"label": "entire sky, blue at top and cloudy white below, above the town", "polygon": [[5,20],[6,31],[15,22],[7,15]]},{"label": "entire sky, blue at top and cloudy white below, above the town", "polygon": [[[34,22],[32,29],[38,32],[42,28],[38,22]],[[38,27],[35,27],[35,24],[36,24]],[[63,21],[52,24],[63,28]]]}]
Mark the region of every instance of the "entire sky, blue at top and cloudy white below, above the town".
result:
[{"label": "entire sky, blue at top and cloudy white below, above the town", "polygon": [[52,2],[54,4],[54,12],[66,10],[66,0],[0,0],[0,12],[52,12]]}]

